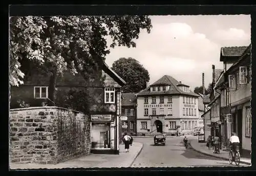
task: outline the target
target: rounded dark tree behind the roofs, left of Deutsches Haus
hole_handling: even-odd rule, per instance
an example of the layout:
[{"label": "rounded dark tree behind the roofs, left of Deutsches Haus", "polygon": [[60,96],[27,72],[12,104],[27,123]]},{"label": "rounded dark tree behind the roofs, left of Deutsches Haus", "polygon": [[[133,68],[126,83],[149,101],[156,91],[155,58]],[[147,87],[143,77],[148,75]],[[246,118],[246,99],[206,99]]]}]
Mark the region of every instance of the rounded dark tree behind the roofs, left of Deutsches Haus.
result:
[{"label": "rounded dark tree behind the roofs, left of Deutsches Haus", "polygon": [[133,58],[120,58],[113,63],[112,69],[126,82],[123,92],[139,92],[150,81],[148,71]]}]

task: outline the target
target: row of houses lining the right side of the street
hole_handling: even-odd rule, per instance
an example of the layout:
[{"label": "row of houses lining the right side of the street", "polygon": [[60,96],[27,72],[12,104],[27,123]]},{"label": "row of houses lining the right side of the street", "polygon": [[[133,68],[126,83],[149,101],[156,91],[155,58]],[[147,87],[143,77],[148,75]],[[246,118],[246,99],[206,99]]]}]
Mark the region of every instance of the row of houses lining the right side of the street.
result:
[{"label": "row of houses lining the right side of the street", "polygon": [[220,136],[225,149],[231,133],[240,139],[242,154],[251,151],[251,44],[249,46],[222,47],[220,61],[223,69],[212,65],[214,91],[205,95],[208,110],[202,115],[205,137]]}]

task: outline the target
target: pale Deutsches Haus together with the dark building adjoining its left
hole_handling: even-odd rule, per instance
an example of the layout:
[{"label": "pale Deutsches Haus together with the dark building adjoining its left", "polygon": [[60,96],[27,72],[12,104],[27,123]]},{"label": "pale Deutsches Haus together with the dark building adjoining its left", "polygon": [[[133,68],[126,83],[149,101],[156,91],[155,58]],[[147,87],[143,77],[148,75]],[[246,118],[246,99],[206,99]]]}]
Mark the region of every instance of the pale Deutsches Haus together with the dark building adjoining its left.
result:
[{"label": "pale Deutsches Haus together with the dark building adjoining its left", "polygon": [[193,134],[203,128],[202,95],[171,76],[163,76],[139,93],[122,94],[120,133],[131,135]]}]

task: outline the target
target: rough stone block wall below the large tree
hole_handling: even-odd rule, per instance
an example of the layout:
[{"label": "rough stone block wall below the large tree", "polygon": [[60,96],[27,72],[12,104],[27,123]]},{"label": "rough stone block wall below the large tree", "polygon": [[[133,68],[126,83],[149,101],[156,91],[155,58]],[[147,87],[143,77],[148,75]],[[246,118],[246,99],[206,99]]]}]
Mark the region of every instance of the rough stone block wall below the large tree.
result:
[{"label": "rough stone block wall below the large tree", "polygon": [[58,107],[10,110],[10,161],[56,164],[90,154],[90,122],[81,112]]}]

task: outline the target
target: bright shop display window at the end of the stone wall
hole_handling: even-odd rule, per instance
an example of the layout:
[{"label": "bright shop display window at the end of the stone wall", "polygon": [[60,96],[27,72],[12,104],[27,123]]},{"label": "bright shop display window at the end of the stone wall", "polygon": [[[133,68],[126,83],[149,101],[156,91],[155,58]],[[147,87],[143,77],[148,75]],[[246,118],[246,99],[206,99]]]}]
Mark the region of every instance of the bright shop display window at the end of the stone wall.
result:
[{"label": "bright shop display window at the end of the stone wall", "polygon": [[110,148],[110,122],[92,122],[92,148]]}]

